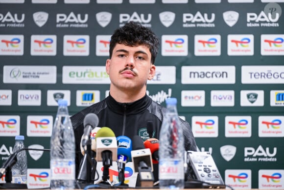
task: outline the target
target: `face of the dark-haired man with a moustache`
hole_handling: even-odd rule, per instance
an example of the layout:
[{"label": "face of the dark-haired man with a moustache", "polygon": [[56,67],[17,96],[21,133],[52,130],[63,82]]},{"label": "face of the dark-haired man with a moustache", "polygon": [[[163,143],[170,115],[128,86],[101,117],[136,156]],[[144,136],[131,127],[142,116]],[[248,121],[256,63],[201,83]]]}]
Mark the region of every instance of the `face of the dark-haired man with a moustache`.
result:
[{"label": "face of the dark-haired man with a moustache", "polygon": [[139,90],[145,87],[147,80],[155,76],[155,69],[149,48],[144,45],[129,47],[117,44],[112,58],[106,61],[106,72],[118,89]]}]

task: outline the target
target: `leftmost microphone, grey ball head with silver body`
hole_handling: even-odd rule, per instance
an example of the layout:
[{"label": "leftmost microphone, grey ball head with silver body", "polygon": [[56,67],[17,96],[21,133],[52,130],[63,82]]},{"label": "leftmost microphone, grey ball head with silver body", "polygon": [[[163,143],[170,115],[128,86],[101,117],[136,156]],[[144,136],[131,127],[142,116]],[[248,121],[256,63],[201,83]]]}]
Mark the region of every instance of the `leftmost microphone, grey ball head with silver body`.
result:
[{"label": "leftmost microphone, grey ball head with silver body", "polygon": [[84,118],[84,134],[82,136],[82,146],[84,147],[87,143],[90,142],[91,131],[97,126],[98,117],[95,113],[88,113]]}]

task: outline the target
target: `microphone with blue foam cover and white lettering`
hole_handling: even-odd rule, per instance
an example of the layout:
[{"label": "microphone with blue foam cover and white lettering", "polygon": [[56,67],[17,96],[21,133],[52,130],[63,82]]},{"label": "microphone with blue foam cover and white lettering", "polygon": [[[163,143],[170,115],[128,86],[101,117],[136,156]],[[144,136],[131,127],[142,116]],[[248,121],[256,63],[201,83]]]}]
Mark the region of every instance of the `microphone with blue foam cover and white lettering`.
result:
[{"label": "microphone with blue foam cover and white lettering", "polygon": [[131,161],[132,141],[127,136],[118,136],[118,181],[120,185],[124,184],[125,163]]}]

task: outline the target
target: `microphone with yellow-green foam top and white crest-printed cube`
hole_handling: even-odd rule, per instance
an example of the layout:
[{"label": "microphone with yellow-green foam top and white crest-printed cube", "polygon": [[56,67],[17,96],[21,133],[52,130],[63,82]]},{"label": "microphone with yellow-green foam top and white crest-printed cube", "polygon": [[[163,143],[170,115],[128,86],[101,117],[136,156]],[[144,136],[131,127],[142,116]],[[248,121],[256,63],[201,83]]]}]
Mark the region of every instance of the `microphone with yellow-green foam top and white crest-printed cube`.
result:
[{"label": "microphone with yellow-green foam top and white crest-printed cube", "polygon": [[113,130],[108,127],[102,127],[97,131],[95,141],[96,161],[102,161],[103,164],[102,180],[112,186],[112,183],[109,181],[109,167],[118,158],[117,138]]}]

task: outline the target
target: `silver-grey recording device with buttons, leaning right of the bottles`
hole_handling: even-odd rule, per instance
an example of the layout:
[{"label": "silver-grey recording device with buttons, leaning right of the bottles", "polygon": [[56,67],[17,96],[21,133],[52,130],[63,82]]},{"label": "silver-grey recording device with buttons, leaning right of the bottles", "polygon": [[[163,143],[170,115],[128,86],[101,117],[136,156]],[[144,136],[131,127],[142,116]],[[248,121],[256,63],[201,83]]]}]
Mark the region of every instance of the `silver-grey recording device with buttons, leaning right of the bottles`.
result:
[{"label": "silver-grey recording device with buttons, leaning right of the bottles", "polygon": [[225,188],[220,172],[210,152],[188,151],[187,158],[189,173],[193,179],[205,182],[203,188]]}]

